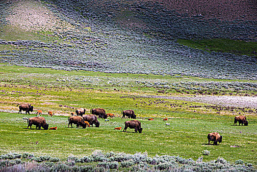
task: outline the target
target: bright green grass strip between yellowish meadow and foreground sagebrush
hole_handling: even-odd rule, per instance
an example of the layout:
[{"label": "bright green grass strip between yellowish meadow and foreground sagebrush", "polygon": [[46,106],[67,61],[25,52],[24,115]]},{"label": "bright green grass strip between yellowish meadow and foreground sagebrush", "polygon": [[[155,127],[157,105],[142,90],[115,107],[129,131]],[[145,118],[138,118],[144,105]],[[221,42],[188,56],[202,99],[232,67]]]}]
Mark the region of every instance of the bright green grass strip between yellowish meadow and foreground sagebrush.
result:
[{"label": "bright green grass strip between yellowish meadow and foreground sagebrush", "polygon": [[[57,130],[26,129],[27,122],[23,117],[34,115],[18,115],[0,113],[1,118],[1,148],[0,153],[30,152],[38,156],[51,155],[65,159],[68,156],[77,157],[91,154],[96,149],[104,152],[136,153],[147,151],[150,156],[179,155],[183,158],[197,158],[203,155],[203,150],[210,154],[204,156],[204,161],[223,157],[230,162],[241,159],[256,165],[255,159],[256,125],[255,118],[249,117],[249,126],[232,126],[231,117],[220,119],[192,119],[192,118],[140,118],[143,128],[142,134],[128,129],[114,130],[122,126],[128,119],[114,118],[110,121],[100,119],[100,127],[68,128],[68,116],[44,116],[50,127],[57,126]],[[150,115],[151,116],[151,115]],[[165,125],[170,123],[170,125]],[[207,133],[216,131],[223,136],[223,142],[217,146],[208,145]],[[235,147],[233,147],[235,146]]]}]

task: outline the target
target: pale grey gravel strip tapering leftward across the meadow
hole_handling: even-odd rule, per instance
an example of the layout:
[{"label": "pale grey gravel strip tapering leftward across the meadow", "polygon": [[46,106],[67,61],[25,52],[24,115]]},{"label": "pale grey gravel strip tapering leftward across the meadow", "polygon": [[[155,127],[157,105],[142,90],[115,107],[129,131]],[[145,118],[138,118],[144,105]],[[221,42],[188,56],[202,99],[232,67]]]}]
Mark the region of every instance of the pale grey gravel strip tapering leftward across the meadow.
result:
[{"label": "pale grey gravel strip tapering leftward across the meadow", "polygon": [[249,107],[257,108],[257,97],[248,97],[248,96],[194,96],[194,97],[166,97],[166,96],[142,96],[142,97],[151,97],[151,98],[162,98],[162,99],[173,99],[173,100],[184,100],[184,101],[193,101],[201,102],[208,104],[215,104],[220,106],[232,106],[232,107]]}]

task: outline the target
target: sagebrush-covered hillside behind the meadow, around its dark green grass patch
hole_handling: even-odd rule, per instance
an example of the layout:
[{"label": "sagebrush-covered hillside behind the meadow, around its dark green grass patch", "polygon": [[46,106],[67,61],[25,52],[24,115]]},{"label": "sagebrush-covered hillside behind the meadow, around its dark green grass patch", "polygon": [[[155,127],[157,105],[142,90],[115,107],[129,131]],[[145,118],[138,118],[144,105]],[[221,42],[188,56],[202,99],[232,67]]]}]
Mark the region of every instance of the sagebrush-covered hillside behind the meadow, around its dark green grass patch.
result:
[{"label": "sagebrush-covered hillside behind the meadow, around its dark green grass patch", "polygon": [[[251,41],[256,47],[255,4],[255,0],[224,4],[220,0],[1,0],[0,62],[257,80],[255,48],[249,57],[177,43],[177,39],[226,38]],[[242,8],[236,10],[238,6]]]}]

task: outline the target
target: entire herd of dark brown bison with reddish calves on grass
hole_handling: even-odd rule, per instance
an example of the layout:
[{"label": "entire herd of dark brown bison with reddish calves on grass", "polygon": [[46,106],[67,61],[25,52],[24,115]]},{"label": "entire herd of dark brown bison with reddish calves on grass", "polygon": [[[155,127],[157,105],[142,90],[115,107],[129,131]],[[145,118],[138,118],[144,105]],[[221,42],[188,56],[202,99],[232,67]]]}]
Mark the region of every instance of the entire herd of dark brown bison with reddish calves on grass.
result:
[{"label": "entire herd of dark brown bison with reddish calves on grass", "polygon": [[[19,106],[20,105],[20,106]],[[18,104],[17,106],[19,106],[19,113],[22,114],[22,111],[26,111],[26,114],[29,112],[33,112],[33,106],[31,106],[30,104]],[[108,116],[110,116],[111,118],[114,117],[115,115],[113,114],[106,114],[105,110],[103,108],[97,108],[97,109],[91,109],[89,115],[85,115],[86,110],[84,108],[80,108],[78,110],[76,110],[75,114],[72,113],[72,116],[68,117],[68,128],[71,127],[73,128],[72,124],[77,125],[77,128],[79,128],[79,126],[81,126],[82,128],[86,128],[86,127],[90,127],[93,124],[96,127],[100,126],[100,122],[97,120],[97,116],[99,116],[100,118],[106,119]],[[42,115],[42,111],[38,111],[37,114],[41,114]],[[52,112],[48,112],[48,115],[52,116]],[[125,116],[127,116],[128,118],[136,118],[136,115],[134,113],[133,110],[125,110],[122,111],[122,118],[124,118]],[[149,118],[148,120],[154,120],[153,118]],[[168,120],[168,118],[165,118],[163,120]],[[240,124],[244,124],[245,126],[248,125],[248,121],[246,120],[246,117],[244,115],[238,115],[234,117],[234,124],[236,125],[237,122]],[[41,130],[41,127],[44,128],[44,130],[48,130],[49,124],[46,123],[46,119],[42,116],[36,116],[36,117],[30,117],[27,119],[27,129],[28,127],[30,127],[32,125],[36,126],[36,129],[39,128],[39,130]],[[233,125],[234,125],[233,124]],[[122,127],[116,127],[114,129],[117,130],[121,130]],[[142,133],[143,128],[141,128],[141,122],[138,120],[129,120],[125,122],[125,128],[123,129],[123,132],[127,132],[127,128],[130,129],[135,129],[135,133]],[[56,130],[57,127],[51,127],[50,129],[52,130]],[[208,136],[208,144],[210,144],[210,141],[213,142],[214,145],[217,145],[218,142],[221,143],[222,142],[222,136],[220,136],[219,133],[217,132],[213,132],[213,133],[209,133]]]}]

